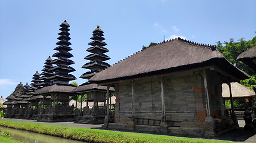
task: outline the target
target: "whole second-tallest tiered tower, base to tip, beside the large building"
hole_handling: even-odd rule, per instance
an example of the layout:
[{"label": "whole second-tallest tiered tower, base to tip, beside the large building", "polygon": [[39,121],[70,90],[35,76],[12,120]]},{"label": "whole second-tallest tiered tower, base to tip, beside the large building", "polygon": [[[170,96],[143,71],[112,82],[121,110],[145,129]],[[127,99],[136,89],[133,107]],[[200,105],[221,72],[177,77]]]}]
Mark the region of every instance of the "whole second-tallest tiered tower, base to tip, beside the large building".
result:
[{"label": "whole second-tallest tiered tower, base to tip, beside the large building", "polygon": [[[105,38],[103,38],[103,33],[104,32],[100,29],[100,26],[97,26],[97,29],[93,31],[93,36],[92,38],[90,38],[93,41],[88,43],[92,47],[86,50],[88,52],[91,52],[92,54],[89,54],[85,57],[85,59],[89,60],[90,62],[82,66],[82,68],[89,69],[91,71],[87,71],[86,73],[82,74],[80,78],[90,79],[96,73],[100,72],[103,69],[106,69],[107,67],[110,67],[109,64],[104,62],[106,60],[109,60],[110,57],[104,54],[106,52],[109,52],[109,49],[103,47],[107,45],[106,42],[103,42],[105,40]],[[107,86],[99,86],[95,83],[86,82],[80,86],[77,86],[77,88],[75,88],[73,92],[82,95],[82,97],[86,94],[87,99],[86,107],[83,108],[83,112],[76,117],[75,123],[104,123],[107,108],[109,108],[108,103],[106,106],[106,94],[109,95],[109,92],[107,91]],[[109,91],[113,92],[114,89],[111,88]],[[94,102],[92,108],[89,108],[89,102]],[[102,104],[99,104],[99,102],[103,102],[103,106],[101,106]],[[83,107],[83,105],[80,105],[80,107]]]}]

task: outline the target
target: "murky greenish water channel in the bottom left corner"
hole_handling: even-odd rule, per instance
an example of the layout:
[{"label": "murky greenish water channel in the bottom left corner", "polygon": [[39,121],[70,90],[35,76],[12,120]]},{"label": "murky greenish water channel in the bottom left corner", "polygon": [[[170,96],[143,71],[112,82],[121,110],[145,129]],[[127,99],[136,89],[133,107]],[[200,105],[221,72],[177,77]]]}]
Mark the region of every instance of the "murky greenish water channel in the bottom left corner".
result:
[{"label": "murky greenish water channel in the bottom left corner", "polygon": [[10,132],[13,139],[19,141],[31,142],[31,143],[85,143],[82,141],[75,141],[72,139],[59,138],[56,136],[44,135],[41,133],[28,132],[25,130],[18,130],[13,128],[6,128],[0,126],[1,132]]}]

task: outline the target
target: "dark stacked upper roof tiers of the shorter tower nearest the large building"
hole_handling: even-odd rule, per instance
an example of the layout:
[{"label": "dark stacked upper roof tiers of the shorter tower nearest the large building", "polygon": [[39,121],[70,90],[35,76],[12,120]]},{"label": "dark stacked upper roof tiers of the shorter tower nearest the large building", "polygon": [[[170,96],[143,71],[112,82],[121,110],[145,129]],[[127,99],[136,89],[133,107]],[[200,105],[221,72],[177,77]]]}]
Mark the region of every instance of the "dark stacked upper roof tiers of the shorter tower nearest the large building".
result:
[{"label": "dark stacked upper roof tiers of the shorter tower nearest the large building", "polygon": [[85,57],[86,60],[90,60],[91,62],[86,63],[82,67],[85,69],[90,69],[91,71],[82,74],[80,78],[90,79],[96,73],[100,72],[103,69],[106,69],[107,67],[110,67],[109,64],[104,62],[106,60],[109,60],[110,57],[104,54],[105,52],[109,52],[109,49],[103,47],[107,45],[106,42],[103,42],[105,40],[105,38],[103,38],[103,33],[104,32],[100,29],[100,26],[97,26],[97,29],[93,31],[93,36],[92,38],[90,38],[93,41],[88,43],[92,47],[86,50],[88,52],[92,52],[92,54],[89,54]]}]

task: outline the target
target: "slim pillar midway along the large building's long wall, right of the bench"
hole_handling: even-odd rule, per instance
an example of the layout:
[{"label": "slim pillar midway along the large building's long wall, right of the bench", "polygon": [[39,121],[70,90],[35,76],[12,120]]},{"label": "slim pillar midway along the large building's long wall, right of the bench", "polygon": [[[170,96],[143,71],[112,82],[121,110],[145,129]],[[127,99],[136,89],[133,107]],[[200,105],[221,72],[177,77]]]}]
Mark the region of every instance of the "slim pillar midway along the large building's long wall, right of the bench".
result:
[{"label": "slim pillar midway along the large building's long wall, right of the bench", "polygon": [[167,133],[168,132],[168,125],[166,123],[166,115],[165,115],[165,100],[164,100],[164,80],[163,76],[160,77],[161,82],[161,101],[162,101],[162,119],[160,123],[160,131]]}]

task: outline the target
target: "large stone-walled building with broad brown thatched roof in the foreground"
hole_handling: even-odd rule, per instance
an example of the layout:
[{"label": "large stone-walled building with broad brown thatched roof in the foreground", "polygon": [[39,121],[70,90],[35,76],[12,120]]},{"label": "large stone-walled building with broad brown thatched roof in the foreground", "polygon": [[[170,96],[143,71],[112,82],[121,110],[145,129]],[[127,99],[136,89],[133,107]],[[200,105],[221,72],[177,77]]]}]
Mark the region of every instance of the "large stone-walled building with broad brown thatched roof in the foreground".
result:
[{"label": "large stone-walled building with broad brown thatched roof in the foreground", "polygon": [[131,55],[89,82],[115,86],[115,119],[106,128],[216,136],[239,126],[234,111],[226,114],[222,83],[248,78],[215,46],[177,38]]}]

